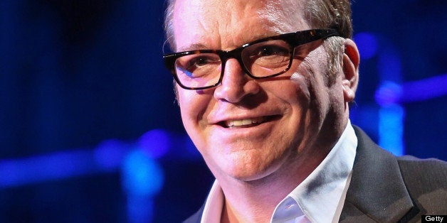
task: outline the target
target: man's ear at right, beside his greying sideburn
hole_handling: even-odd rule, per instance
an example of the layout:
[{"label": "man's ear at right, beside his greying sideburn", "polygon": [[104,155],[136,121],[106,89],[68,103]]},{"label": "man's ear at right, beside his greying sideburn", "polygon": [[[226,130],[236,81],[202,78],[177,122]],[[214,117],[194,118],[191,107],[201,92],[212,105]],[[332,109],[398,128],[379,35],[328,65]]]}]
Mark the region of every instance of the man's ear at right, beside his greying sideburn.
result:
[{"label": "man's ear at right, beside his greying sideburn", "polygon": [[351,39],[345,41],[345,53],[343,54],[343,96],[345,102],[352,102],[359,84],[360,55],[357,45]]}]

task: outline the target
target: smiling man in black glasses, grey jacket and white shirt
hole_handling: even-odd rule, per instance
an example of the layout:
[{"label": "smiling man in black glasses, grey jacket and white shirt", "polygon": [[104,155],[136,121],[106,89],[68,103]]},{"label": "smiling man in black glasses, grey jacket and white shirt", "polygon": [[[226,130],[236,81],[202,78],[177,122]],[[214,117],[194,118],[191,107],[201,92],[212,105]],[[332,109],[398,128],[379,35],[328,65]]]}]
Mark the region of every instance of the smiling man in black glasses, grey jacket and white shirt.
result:
[{"label": "smiling man in black glasses, grey jacket and white shirt", "polygon": [[186,222],[397,222],[447,214],[447,165],[349,122],[347,0],[177,0],[165,28],[184,127],[216,181]]}]

